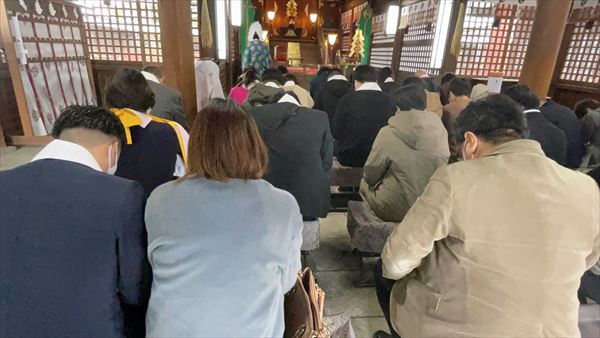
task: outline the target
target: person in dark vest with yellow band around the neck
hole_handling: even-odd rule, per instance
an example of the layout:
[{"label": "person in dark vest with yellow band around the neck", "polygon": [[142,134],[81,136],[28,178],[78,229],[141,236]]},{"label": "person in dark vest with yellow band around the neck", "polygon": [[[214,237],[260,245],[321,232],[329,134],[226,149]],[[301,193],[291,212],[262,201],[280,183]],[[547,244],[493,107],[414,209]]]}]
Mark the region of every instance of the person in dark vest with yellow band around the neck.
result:
[{"label": "person in dark vest with yellow band around the neck", "polygon": [[144,76],[120,69],[106,85],[106,103],[125,127],[127,142],[115,175],[138,181],[144,196],[161,184],[185,174],[188,133],[176,122],[146,114],[155,94]]}]

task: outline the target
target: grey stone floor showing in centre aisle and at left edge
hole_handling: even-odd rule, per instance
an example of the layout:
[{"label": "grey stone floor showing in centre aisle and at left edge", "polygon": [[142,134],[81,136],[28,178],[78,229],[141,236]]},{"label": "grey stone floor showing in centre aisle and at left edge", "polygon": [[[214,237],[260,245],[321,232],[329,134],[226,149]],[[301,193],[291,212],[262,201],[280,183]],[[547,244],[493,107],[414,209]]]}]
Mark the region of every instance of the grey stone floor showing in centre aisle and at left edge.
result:
[{"label": "grey stone floor showing in centre aisle and at left edge", "polygon": [[[0,148],[0,170],[29,162],[39,150]],[[326,293],[326,315],[345,313],[351,317],[359,338],[371,337],[377,330],[387,331],[375,289],[353,284],[359,278],[358,259],[350,253],[345,213],[330,213],[321,220],[321,247],[311,251],[309,257],[309,265],[314,266],[318,283]]]}]

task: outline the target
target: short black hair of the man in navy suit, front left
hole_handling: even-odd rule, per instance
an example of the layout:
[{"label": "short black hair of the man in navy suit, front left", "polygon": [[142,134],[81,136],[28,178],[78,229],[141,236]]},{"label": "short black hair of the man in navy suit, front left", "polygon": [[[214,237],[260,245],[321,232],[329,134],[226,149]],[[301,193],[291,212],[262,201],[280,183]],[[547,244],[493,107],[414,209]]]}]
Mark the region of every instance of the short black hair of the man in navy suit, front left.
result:
[{"label": "short black hair of the man in navy suit, front left", "polygon": [[67,129],[90,129],[115,137],[125,143],[125,129],[119,118],[112,112],[96,106],[68,106],[62,110],[52,127],[52,137],[60,139]]}]

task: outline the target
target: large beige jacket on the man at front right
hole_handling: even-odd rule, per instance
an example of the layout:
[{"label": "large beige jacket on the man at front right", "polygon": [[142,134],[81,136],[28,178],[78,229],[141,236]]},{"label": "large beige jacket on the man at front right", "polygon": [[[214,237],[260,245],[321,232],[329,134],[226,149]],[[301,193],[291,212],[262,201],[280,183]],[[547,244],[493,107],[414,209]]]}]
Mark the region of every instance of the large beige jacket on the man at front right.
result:
[{"label": "large beige jacket on the man at front right", "polygon": [[598,260],[600,196],[516,140],[440,168],[388,238],[402,337],[577,337],[581,275]]}]

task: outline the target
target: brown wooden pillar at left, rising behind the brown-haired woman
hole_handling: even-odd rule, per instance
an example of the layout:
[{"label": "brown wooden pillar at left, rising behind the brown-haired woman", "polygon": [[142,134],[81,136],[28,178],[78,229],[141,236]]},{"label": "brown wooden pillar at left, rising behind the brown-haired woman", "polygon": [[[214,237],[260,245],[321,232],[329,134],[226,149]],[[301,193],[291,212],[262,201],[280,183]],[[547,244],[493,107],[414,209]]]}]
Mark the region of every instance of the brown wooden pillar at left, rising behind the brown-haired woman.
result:
[{"label": "brown wooden pillar at left, rising behind the brown-haired woman", "polygon": [[196,117],[196,80],[189,0],[158,0],[165,83],[183,97],[188,123]]}]

